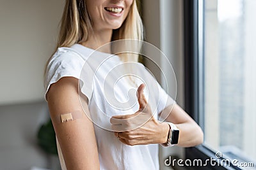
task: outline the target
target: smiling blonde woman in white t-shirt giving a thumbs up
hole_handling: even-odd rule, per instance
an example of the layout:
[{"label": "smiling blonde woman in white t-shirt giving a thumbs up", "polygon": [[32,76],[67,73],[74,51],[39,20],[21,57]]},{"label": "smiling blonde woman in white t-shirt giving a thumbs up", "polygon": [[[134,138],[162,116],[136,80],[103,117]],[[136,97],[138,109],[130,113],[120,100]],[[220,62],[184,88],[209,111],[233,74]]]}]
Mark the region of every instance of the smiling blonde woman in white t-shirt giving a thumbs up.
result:
[{"label": "smiling blonde woman in white t-shirt giving a thumbs up", "polygon": [[[106,66],[102,64],[104,69],[95,74],[93,85],[88,83],[86,75],[95,73],[95,62],[111,53],[111,46],[104,46],[104,52],[96,51],[86,65],[95,49],[117,39],[141,40],[142,35],[143,26],[134,0],[66,1],[58,45],[45,71],[45,99],[58,139],[59,155],[63,156],[63,169],[159,169],[157,144],[170,145],[177,140],[178,146],[187,147],[202,143],[200,127],[174,104],[159,84],[156,88],[160,102],[156,111],[168,115],[166,122],[159,122],[154,115],[152,106],[156,103],[147,101],[145,85],[132,82],[132,78],[117,85],[116,95],[124,99],[122,91],[125,93],[136,86],[138,102],[125,111],[108,106],[102,87],[106,72],[125,61],[137,62],[138,56],[115,55],[104,62]],[[140,69],[148,74],[145,68]],[[82,70],[85,78],[79,89]],[[148,95],[151,93],[154,92],[149,90]],[[104,112],[103,116],[100,111]],[[179,135],[174,135],[176,129]]]}]

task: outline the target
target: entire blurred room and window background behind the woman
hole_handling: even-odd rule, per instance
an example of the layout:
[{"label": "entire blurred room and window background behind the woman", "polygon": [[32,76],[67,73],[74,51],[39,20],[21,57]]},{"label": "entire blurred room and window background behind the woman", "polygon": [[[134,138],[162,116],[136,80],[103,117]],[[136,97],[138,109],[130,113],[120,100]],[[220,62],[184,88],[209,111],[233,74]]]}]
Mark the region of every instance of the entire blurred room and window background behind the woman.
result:
[{"label": "entire blurred room and window background behind the woman", "polygon": [[[256,1],[138,2],[145,41],[172,63],[176,101],[205,134],[204,144],[195,148],[160,147],[160,168],[192,169],[166,166],[164,160],[170,155],[216,159],[219,151],[230,160],[253,162],[255,169]],[[64,3],[0,0],[0,170],[60,169],[44,100],[44,67],[56,45]],[[154,60],[163,71],[168,67],[159,57]],[[144,64],[163,83],[159,68]],[[166,90],[175,93],[175,87]],[[253,169],[207,167],[221,168]]]}]

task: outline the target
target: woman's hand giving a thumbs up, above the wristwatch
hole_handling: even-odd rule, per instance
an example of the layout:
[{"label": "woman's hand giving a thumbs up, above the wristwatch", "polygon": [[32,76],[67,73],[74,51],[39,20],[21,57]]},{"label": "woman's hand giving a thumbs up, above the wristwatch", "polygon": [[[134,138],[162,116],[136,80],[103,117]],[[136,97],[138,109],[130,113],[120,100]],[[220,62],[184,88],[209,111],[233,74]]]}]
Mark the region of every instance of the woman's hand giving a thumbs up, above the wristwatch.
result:
[{"label": "woman's hand giving a thumbs up, above the wristwatch", "polygon": [[116,115],[110,122],[115,136],[125,145],[148,145],[166,143],[169,125],[156,120],[143,94],[144,84],[138,87],[139,110],[131,115]]}]

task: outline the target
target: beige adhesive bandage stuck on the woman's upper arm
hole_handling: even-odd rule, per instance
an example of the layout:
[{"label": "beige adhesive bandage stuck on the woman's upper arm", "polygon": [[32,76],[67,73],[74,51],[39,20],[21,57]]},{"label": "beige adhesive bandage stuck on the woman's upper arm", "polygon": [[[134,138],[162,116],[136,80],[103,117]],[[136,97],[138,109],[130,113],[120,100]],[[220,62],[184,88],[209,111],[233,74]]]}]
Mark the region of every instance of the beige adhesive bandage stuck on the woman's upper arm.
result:
[{"label": "beige adhesive bandage stuck on the woman's upper arm", "polygon": [[56,116],[55,120],[58,123],[65,123],[76,120],[77,118],[82,118],[83,111],[72,111],[69,113],[63,113],[60,116]]}]

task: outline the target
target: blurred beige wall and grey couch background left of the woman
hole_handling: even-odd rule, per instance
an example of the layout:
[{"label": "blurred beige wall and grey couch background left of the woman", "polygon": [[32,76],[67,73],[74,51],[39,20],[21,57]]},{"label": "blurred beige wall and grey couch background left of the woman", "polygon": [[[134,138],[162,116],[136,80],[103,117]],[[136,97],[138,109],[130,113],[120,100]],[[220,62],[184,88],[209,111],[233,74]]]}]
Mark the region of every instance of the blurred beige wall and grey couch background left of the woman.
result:
[{"label": "blurred beige wall and grey couch background left of the woman", "polygon": [[[56,154],[40,147],[37,136],[49,118],[44,67],[56,45],[64,3],[0,1],[0,169],[60,169]],[[51,139],[49,133],[43,137]]]}]

